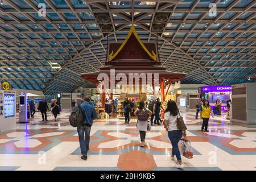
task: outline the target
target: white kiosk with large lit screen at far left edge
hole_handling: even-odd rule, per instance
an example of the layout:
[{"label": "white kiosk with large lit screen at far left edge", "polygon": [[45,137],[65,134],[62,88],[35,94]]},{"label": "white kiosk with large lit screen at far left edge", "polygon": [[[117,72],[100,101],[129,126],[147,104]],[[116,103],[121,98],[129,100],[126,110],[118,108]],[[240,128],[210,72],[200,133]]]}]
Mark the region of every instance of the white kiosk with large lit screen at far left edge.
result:
[{"label": "white kiosk with large lit screen at far left edge", "polygon": [[0,90],[0,130],[15,129],[16,93],[13,90]]}]

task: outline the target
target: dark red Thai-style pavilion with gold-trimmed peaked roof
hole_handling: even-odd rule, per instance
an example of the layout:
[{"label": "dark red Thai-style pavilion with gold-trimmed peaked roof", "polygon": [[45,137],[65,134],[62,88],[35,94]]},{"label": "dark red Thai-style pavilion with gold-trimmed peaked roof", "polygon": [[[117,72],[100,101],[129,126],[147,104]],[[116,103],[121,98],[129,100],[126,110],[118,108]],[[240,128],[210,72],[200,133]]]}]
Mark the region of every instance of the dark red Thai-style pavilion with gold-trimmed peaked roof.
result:
[{"label": "dark red Thai-style pavilion with gold-trimmed peaked roof", "polygon": [[[166,94],[164,88],[170,83],[176,82],[185,77],[185,73],[175,73],[167,71],[166,67],[160,67],[158,56],[158,48],[156,43],[143,43],[139,38],[135,27],[132,25],[130,31],[123,43],[109,43],[108,56],[106,57],[105,67],[101,67],[100,71],[85,73],[81,77],[98,85],[97,76],[100,73],[106,73],[110,77],[110,70],[115,70],[115,75],[125,73],[127,77],[129,73],[158,73],[160,83],[161,99],[164,101]],[[118,81],[115,81],[117,83]],[[151,83],[154,86],[152,81]],[[168,89],[167,89],[168,92]],[[113,98],[113,93],[110,99]],[[105,105],[105,94],[101,96],[102,106]]]}]

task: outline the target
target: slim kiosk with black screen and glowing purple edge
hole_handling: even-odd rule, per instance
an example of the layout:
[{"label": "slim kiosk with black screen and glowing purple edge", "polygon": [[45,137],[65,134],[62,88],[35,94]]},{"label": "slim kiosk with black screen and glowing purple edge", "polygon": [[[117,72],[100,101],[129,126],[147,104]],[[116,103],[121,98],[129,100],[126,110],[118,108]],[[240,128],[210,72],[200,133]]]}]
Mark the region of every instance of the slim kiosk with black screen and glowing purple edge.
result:
[{"label": "slim kiosk with black screen and glowing purple edge", "polygon": [[19,123],[27,123],[27,92],[19,95]]}]

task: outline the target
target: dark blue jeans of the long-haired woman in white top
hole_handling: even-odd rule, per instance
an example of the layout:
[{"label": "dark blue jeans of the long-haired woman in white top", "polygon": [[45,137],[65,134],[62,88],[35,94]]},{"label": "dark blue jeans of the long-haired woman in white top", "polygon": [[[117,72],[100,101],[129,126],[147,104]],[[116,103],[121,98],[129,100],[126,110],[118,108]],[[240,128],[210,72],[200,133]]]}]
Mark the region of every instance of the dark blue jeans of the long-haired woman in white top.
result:
[{"label": "dark blue jeans of the long-haired woman in white top", "polygon": [[182,138],[183,132],[181,130],[168,131],[168,137],[172,143],[172,155],[175,155],[177,161],[181,161],[180,150],[178,147],[179,140]]}]

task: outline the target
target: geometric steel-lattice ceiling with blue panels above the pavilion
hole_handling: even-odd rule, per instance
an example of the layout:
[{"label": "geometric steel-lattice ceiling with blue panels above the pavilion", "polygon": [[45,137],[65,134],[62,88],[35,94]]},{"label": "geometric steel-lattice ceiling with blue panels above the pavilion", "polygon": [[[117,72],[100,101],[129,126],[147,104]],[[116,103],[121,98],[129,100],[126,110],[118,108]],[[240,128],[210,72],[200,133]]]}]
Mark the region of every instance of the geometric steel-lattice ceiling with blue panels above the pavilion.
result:
[{"label": "geometric steel-lattice ceiling with blue panels above the pavilion", "polygon": [[142,42],[158,39],[160,66],[187,73],[182,84],[256,82],[247,79],[256,75],[255,0],[0,0],[0,78],[18,89],[72,92],[131,24]]}]

